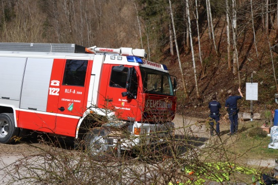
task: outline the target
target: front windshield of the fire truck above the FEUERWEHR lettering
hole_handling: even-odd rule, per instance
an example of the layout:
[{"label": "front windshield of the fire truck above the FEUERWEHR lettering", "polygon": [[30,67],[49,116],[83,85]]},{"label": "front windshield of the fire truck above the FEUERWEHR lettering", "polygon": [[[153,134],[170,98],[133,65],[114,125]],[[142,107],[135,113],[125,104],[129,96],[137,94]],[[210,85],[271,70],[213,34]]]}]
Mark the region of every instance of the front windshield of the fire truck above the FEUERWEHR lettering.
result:
[{"label": "front windshield of the fire truck above the FEUERWEHR lettering", "polygon": [[144,92],[148,94],[174,96],[173,83],[168,73],[140,67]]}]

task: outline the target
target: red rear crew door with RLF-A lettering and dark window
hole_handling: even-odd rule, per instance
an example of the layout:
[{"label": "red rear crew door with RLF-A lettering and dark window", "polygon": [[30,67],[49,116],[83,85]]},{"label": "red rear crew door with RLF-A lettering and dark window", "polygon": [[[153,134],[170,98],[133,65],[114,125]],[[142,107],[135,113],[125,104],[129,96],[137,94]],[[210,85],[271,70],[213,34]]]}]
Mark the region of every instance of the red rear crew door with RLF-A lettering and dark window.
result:
[{"label": "red rear crew door with RLF-A lettering and dark window", "polygon": [[[64,66],[62,81],[59,91],[55,133],[75,136],[79,119],[86,111],[90,71],[88,60],[67,59]],[[55,93],[55,91],[53,91]]]}]

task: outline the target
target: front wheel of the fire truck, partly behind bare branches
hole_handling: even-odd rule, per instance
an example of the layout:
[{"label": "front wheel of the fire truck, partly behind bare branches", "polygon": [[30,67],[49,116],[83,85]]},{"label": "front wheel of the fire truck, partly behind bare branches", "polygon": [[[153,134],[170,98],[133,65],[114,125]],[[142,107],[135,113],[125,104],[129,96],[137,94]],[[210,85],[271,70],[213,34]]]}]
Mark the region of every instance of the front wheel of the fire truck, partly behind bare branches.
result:
[{"label": "front wheel of the fire truck, partly behind bare branches", "polygon": [[108,150],[104,129],[94,128],[85,136],[85,150],[91,156],[104,156]]}]

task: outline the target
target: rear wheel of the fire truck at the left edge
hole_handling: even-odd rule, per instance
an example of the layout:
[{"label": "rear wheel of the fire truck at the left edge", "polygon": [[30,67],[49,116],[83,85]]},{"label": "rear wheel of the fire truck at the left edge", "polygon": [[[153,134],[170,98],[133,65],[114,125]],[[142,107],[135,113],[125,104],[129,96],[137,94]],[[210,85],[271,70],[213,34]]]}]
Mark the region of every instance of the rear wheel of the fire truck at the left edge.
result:
[{"label": "rear wheel of the fire truck at the left edge", "polygon": [[15,126],[15,118],[12,113],[0,114],[0,143],[12,143],[12,137],[17,136],[19,128]]}]

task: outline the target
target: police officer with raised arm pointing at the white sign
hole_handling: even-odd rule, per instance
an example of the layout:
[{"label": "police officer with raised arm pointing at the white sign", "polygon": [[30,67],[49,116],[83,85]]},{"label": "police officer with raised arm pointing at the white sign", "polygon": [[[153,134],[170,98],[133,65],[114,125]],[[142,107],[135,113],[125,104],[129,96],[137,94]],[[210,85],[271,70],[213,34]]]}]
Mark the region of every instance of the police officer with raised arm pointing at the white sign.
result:
[{"label": "police officer with raised arm pointing at the white sign", "polygon": [[239,88],[238,90],[240,92],[240,96],[232,96],[231,90],[227,91],[229,97],[225,102],[225,108],[228,111],[230,120],[230,133],[228,133],[228,135],[233,135],[238,131],[238,100],[243,97],[241,89]]}]

